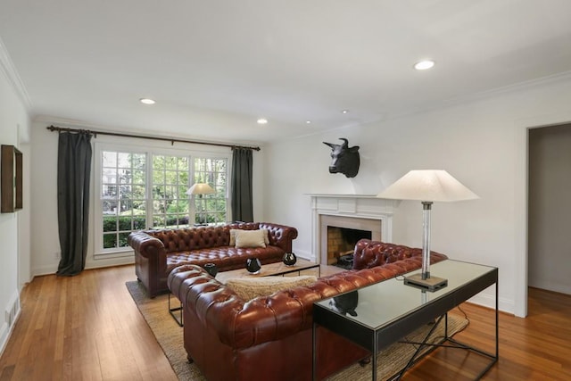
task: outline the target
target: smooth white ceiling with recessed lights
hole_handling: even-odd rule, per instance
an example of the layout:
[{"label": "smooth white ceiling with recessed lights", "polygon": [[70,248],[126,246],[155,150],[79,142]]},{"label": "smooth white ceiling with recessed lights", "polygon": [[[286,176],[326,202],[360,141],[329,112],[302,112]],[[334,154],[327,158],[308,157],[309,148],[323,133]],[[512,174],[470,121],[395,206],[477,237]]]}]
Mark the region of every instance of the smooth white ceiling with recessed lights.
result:
[{"label": "smooth white ceiling with recessed lights", "polygon": [[[570,21],[568,0],[0,2],[34,118],[229,142],[350,128],[566,73]],[[413,70],[426,58],[433,69]]]}]

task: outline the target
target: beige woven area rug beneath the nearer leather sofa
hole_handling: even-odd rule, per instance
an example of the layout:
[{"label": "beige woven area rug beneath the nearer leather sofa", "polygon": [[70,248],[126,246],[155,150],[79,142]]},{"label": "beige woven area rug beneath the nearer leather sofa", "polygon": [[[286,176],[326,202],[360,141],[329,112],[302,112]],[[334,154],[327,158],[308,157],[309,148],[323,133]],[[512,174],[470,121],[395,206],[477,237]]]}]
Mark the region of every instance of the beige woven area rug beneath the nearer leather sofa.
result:
[{"label": "beige woven area rug beneath the nearer leather sofa", "polygon": [[[177,322],[172,319],[168,309],[168,296],[166,294],[159,295],[154,299],[146,296],[145,289],[137,281],[126,283],[128,292],[133,297],[139,311],[145,318],[149,327],[153,331],[157,342],[161,345],[162,351],[174,369],[180,381],[203,381],[200,370],[194,364],[189,364],[186,360],[186,351],[183,344],[183,328],[178,327]],[[170,302],[178,303],[177,299],[171,299]],[[444,321],[444,320],[443,320]],[[433,340],[437,340],[443,336],[443,321],[439,327],[436,327],[432,335]],[[454,335],[468,326],[468,319],[459,317],[456,314],[449,314],[448,317],[448,333]],[[416,332],[408,335],[406,339],[415,342],[424,337],[431,326],[421,327]],[[396,372],[402,369],[410,356],[416,351],[414,345],[396,343],[391,345],[385,351],[377,354],[377,379],[385,380],[392,377]],[[369,380],[371,378],[371,364],[361,367],[354,364],[347,369],[328,378],[330,381],[345,380]]]}]

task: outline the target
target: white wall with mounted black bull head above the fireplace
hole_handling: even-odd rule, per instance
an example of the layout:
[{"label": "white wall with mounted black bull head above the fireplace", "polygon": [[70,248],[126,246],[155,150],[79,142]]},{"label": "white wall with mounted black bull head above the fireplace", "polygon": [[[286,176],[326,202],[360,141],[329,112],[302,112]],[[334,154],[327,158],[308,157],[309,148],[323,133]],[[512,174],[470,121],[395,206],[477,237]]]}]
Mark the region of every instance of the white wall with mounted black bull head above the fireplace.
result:
[{"label": "white wall with mounted black bull head above the fireplace", "polygon": [[[442,169],[479,200],[435,203],[432,250],[451,259],[500,269],[500,307],[526,314],[526,133],[529,127],[571,120],[571,78],[503,89],[442,109],[367,126],[275,142],[266,147],[266,219],[299,230],[294,251],[311,253],[310,197],[304,194],[377,194],[408,170]],[[356,178],[329,174],[323,141],[360,145]],[[402,202],[393,241],[422,245],[422,207]],[[493,288],[476,302],[492,306]]]}]

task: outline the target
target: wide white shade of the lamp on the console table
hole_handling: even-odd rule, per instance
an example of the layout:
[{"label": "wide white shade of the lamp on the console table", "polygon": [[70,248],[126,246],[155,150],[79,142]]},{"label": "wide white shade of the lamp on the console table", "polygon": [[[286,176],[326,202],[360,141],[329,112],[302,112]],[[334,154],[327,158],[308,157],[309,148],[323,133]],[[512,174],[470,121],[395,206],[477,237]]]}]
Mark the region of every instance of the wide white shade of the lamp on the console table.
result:
[{"label": "wide white shade of the lamp on the console table", "polygon": [[377,197],[426,202],[454,202],[479,198],[445,170],[410,170]]}]

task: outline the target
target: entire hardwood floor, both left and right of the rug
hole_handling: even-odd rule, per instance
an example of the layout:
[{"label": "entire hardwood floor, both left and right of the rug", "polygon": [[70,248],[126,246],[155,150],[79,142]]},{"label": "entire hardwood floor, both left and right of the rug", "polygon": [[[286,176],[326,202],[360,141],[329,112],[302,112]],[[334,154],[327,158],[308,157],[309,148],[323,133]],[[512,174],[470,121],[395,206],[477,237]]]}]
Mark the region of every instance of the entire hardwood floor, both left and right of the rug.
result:
[{"label": "entire hardwood floor, both left and right of the rug", "polygon": [[[125,287],[134,278],[133,266],[36,277],[22,292],[0,381],[176,380]],[[456,337],[492,352],[493,312],[468,303],[462,309],[470,324]],[[476,355],[441,348],[403,379],[470,379],[482,367]],[[526,319],[501,313],[500,360],[483,379],[571,379],[571,295],[530,288]]]}]

